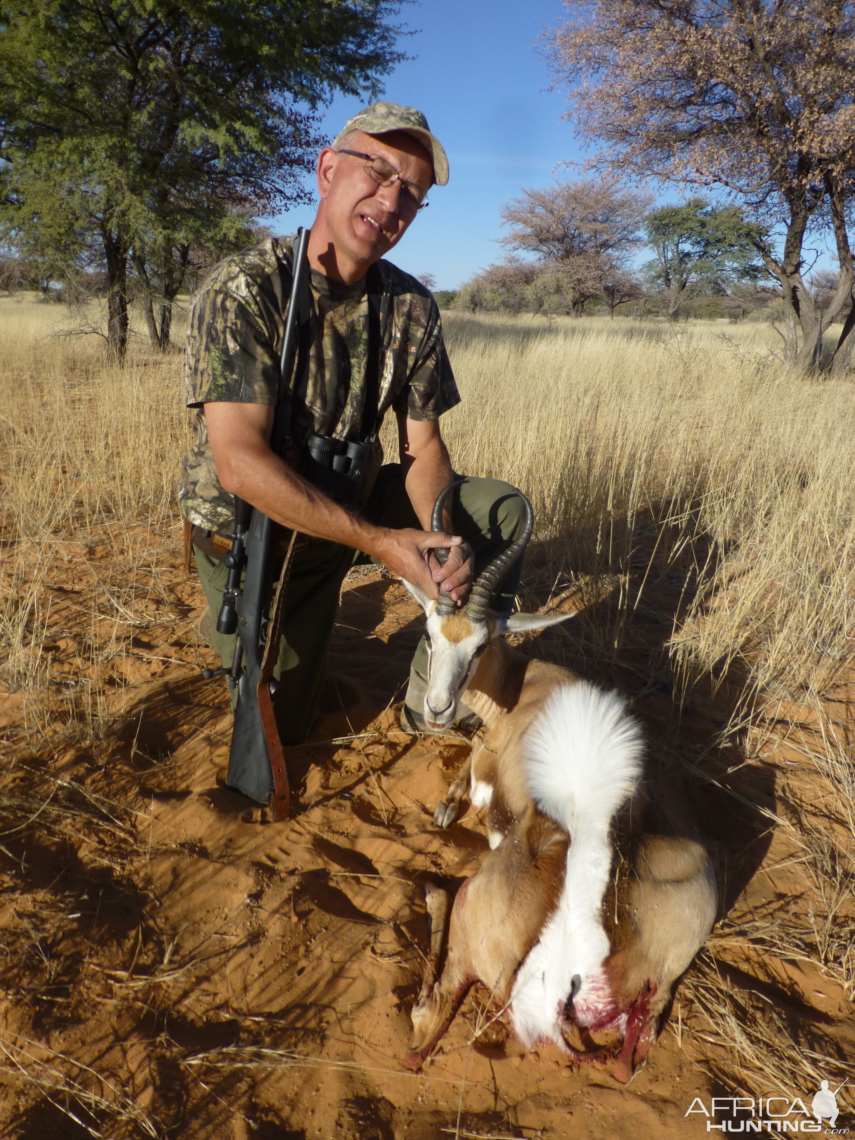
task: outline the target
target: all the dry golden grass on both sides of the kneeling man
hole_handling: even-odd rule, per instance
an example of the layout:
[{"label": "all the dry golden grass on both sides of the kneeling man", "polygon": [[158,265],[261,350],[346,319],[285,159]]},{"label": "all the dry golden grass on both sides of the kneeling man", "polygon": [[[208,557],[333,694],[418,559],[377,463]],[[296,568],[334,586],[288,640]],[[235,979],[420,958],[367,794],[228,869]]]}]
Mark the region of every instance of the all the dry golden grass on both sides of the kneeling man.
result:
[{"label": "all the dry golden grass on both sides of the kneeling man", "polygon": [[[14,793],[0,844],[44,829],[121,877],[139,850],[132,813],[43,758],[85,746],[97,759],[122,714],[117,662],[174,608],[160,552],[178,534],[181,358],[155,356],[140,340],[119,369],[97,339],[58,335],[65,321],[58,307],[0,299],[0,644],[25,730],[6,738]],[[446,329],[464,396],[443,420],[455,465],[521,486],[537,512],[524,603],[568,591],[589,603],[581,632],[548,645],[583,652],[620,683],[634,674],[635,692],[673,691],[677,720],[700,700],[726,697],[715,733],[677,750],[694,777],[734,803],[755,811],[736,776],[772,771],[760,831],[787,837],[804,895],[759,933],[734,920],[717,935],[681,997],[700,1052],[709,1047],[711,1070],[742,1089],[763,1089],[769,1074],[780,1088],[798,1086],[805,1072],[831,1075],[813,1045],[803,1045],[809,1065],[800,1065],[791,1025],[750,1000],[720,961],[799,960],[855,993],[855,386],[788,372],[760,325],[451,314]],[[88,556],[107,543],[111,571]],[[57,565],[95,576],[83,635],[80,613],[68,617],[74,597],[57,610],[48,589]],[[642,618],[662,612],[657,591],[669,592],[668,625],[641,652]],[[57,675],[48,646],[63,637],[74,638],[76,663]],[[803,758],[807,782],[796,779],[803,768],[781,769],[782,741]],[[26,1050],[10,1050],[9,1065],[26,1070]],[[30,1072],[44,1089],[83,1096],[74,1091],[82,1069],[39,1054]],[[92,1085],[85,1096],[97,1116],[113,1091]],[[116,1113],[130,1112],[113,1099]]]}]

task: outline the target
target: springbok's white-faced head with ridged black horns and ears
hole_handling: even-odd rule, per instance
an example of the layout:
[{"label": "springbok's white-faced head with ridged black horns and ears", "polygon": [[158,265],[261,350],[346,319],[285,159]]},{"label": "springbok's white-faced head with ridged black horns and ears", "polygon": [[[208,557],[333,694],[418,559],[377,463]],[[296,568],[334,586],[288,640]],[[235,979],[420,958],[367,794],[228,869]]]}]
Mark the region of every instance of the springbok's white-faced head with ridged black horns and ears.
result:
[{"label": "springbok's white-faced head with ridged black horns and ears", "polygon": [[[434,531],[442,530],[442,507],[448,495],[463,482],[449,483],[437,497],[431,516]],[[572,613],[496,613],[488,605],[497,586],[511,567],[522,557],[535,524],[535,512],[524,495],[520,494],[526,511],[522,534],[506,551],[478,576],[465,606],[457,606],[450,595],[440,591],[431,598],[409,581],[404,585],[425,612],[427,643],[427,692],[424,699],[424,719],[431,728],[445,728],[457,714],[457,701],[478,668],[478,659],[495,637],[526,630],[545,629],[567,621]],[[448,549],[434,551],[441,564]]]}]

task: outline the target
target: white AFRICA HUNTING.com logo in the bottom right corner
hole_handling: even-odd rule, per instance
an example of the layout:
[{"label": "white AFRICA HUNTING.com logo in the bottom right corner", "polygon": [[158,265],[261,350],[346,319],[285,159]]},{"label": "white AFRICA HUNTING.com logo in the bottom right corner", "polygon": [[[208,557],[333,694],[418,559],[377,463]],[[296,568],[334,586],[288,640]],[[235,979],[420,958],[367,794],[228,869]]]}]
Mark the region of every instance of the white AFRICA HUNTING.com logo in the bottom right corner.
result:
[{"label": "white AFRICA HUNTING.com logo in the bottom right corner", "polygon": [[840,1107],[837,1089],[821,1081],[813,1094],[796,1097],[712,1097],[705,1101],[695,1097],[686,1116],[706,1117],[707,1132],[821,1132],[825,1135],[849,1135],[849,1129],[838,1124]]}]

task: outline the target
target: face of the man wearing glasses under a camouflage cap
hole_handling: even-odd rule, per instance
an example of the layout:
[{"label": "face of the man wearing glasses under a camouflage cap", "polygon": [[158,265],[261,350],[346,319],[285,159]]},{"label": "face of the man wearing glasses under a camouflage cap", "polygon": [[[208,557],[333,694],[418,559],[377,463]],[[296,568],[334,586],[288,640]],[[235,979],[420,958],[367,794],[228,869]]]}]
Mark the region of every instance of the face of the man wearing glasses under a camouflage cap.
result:
[{"label": "face of the man wearing glasses under a camouflage cap", "polygon": [[[353,131],[342,146],[385,158],[405,181],[424,190],[431,185],[433,168],[427,152],[404,131],[381,136]],[[344,280],[363,277],[370,264],[401,239],[415,218],[406,195],[401,198],[400,181],[378,186],[365,168],[365,158],[336,154],[329,148],[321,150],[318,158],[321,197],[318,221],[325,230],[324,244],[334,247],[335,268]]]}]

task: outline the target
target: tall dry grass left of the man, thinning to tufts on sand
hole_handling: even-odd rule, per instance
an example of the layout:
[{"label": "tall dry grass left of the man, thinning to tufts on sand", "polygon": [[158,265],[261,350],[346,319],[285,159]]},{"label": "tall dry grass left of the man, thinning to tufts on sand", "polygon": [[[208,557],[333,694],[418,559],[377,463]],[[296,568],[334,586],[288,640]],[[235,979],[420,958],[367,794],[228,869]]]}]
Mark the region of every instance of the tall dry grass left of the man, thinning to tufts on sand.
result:
[{"label": "tall dry grass left of the man, thinning to tufts on sand", "polygon": [[[5,560],[0,645],[7,682],[30,695],[49,681],[41,650],[57,629],[43,586],[57,559],[74,559],[100,595],[80,645],[81,677],[145,627],[152,601],[168,604],[148,552],[176,523],[181,357],[138,345],[125,368],[112,367],[99,337],[73,335],[78,318],[26,298],[0,300],[0,323],[2,543],[14,552]],[[122,567],[113,581],[87,561],[104,543]],[[74,702],[88,735],[105,728],[103,695],[83,683]]]}]

